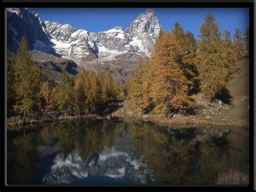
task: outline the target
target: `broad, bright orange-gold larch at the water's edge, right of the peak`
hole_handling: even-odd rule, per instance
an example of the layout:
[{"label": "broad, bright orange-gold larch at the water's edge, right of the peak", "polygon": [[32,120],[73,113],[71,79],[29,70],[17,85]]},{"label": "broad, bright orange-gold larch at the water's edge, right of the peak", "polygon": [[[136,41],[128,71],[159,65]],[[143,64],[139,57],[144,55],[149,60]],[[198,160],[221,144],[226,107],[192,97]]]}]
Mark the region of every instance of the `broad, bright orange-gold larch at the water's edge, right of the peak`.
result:
[{"label": "broad, bright orange-gold larch at the water's edge, right of the peak", "polygon": [[176,46],[177,42],[171,32],[162,32],[156,39],[151,55],[151,63],[154,65],[153,101],[159,112],[166,113],[168,120],[180,108],[192,108],[194,105],[188,96],[188,80],[176,59]]}]

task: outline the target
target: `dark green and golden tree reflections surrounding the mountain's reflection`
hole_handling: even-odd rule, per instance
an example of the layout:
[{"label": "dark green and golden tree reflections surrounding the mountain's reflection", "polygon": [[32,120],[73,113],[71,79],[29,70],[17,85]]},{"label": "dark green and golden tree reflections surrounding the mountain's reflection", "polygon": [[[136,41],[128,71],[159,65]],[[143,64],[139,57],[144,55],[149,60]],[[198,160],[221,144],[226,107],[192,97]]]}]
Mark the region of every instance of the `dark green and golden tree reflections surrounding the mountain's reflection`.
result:
[{"label": "dark green and golden tree reflections surrounding the mountain's reflection", "polygon": [[[114,143],[118,143],[115,150],[124,151],[137,162],[134,167],[137,171],[128,173],[127,166],[131,168],[131,165],[126,160],[124,171],[128,178],[135,182],[134,176],[129,174],[142,177],[149,172],[145,177],[152,176],[148,183],[155,184],[214,184],[220,172],[228,172],[230,168],[244,171],[249,165],[249,154],[224,135],[207,136],[194,127],[175,129],[138,120],[81,118],[63,121],[7,142],[8,181],[17,184],[33,183],[40,156],[37,145],[58,148],[63,161],[76,151],[86,162],[95,154],[99,156],[104,148],[111,151]],[[106,170],[117,169],[113,162],[106,166],[109,166]]]}]

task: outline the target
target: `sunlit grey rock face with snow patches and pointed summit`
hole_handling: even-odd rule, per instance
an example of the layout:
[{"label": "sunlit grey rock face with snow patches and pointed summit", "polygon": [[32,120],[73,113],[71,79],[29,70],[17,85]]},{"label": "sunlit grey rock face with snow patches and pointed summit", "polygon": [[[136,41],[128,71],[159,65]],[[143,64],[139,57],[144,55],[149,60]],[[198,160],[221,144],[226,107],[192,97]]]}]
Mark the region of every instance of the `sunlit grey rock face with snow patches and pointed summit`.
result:
[{"label": "sunlit grey rock face with snow patches and pointed summit", "polygon": [[141,13],[125,31],[117,26],[107,31],[89,33],[69,24],[51,21],[44,23],[55,44],[54,50],[68,59],[83,59],[90,53],[100,60],[114,60],[118,55],[125,57],[126,53],[150,56],[160,31],[159,21],[152,9]]}]

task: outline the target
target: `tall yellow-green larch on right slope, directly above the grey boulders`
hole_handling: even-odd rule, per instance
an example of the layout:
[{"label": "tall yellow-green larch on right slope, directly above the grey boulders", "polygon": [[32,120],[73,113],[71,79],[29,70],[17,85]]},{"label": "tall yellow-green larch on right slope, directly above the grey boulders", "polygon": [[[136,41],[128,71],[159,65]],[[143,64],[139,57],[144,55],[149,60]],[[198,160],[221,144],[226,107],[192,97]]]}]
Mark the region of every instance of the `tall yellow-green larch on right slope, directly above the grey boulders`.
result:
[{"label": "tall yellow-green larch on right slope, directly above the grey boulders", "polygon": [[226,87],[229,71],[225,60],[227,56],[223,48],[222,35],[216,18],[208,12],[204,16],[198,35],[200,37],[198,70],[201,79],[200,88],[211,102],[216,94]]}]

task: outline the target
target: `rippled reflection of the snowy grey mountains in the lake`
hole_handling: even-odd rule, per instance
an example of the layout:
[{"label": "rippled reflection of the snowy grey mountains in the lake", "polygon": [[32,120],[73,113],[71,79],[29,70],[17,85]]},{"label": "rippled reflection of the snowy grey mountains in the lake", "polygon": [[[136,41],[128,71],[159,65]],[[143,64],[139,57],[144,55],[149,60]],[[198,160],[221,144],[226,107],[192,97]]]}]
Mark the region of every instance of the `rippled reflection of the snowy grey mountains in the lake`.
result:
[{"label": "rippled reflection of the snowy grey mountains in the lake", "polygon": [[[125,141],[124,141],[125,140]],[[152,184],[154,179],[146,165],[141,164],[133,156],[132,143],[127,144],[130,138],[116,139],[112,148],[104,147],[100,154],[95,152],[83,161],[76,151],[73,151],[64,160],[64,156],[58,154],[53,160],[51,172],[44,176],[46,184],[70,184],[78,178],[89,175],[104,175],[115,180],[123,180],[127,176],[133,184]],[[131,141],[131,140],[130,140]],[[139,172],[140,168],[143,172]]]}]

